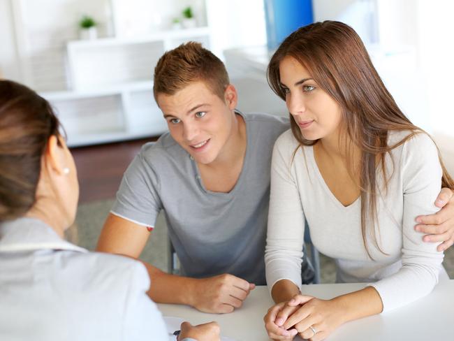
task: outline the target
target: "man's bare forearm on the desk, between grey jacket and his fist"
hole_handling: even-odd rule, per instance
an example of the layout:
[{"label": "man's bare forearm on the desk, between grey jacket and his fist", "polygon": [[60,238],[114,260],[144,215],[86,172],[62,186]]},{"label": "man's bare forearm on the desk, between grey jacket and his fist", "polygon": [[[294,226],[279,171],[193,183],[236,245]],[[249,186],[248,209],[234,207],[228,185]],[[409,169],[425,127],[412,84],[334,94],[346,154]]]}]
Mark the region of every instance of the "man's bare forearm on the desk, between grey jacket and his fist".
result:
[{"label": "man's bare forearm on the desk, between grey jacket and his fist", "polygon": [[175,303],[193,306],[196,295],[196,282],[190,277],[169,275],[149,263],[142,262],[147,268],[151,285],[148,296],[156,303]]}]

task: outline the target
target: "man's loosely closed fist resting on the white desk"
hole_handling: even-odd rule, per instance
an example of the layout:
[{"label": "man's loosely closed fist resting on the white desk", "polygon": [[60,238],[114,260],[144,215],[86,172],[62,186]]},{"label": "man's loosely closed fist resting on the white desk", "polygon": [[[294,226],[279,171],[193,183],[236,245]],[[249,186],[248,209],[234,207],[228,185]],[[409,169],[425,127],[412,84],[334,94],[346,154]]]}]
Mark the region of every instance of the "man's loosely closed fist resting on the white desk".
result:
[{"label": "man's loosely closed fist resting on the white desk", "polygon": [[242,306],[249,292],[255,288],[233,275],[219,275],[194,280],[191,289],[191,305],[201,312],[233,312]]}]

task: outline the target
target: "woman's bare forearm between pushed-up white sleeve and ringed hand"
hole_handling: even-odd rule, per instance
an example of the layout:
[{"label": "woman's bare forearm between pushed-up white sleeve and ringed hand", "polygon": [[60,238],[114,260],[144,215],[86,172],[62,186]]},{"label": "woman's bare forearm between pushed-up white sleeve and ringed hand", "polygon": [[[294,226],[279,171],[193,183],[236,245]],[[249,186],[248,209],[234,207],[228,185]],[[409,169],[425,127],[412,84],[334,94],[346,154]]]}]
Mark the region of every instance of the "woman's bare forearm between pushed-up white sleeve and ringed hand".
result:
[{"label": "woman's bare forearm between pushed-up white sleeve and ringed hand", "polygon": [[380,295],[372,286],[337,296],[332,298],[332,302],[338,305],[338,311],[342,312],[342,323],[379,314],[383,310]]}]

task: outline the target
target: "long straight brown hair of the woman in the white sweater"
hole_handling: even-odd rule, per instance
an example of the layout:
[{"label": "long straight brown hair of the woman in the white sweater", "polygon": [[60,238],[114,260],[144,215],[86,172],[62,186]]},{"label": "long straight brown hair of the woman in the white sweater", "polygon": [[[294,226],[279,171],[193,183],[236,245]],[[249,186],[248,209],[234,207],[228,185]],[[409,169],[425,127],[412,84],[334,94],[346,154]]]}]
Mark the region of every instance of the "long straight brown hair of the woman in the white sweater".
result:
[{"label": "long straight brown hair of the woman in the white sweater", "polygon": [[[365,46],[356,32],[342,22],[325,21],[309,24],[294,31],[279,46],[268,65],[268,83],[281,99],[286,99],[281,87],[279,64],[285,57],[293,57],[307,68],[318,85],[335,99],[342,108],[342,133],[340,141],[350,141],[360,148],[360,197],[361,232],[367,247],[367,209],[376,221],[376,166],[380,165],[386,175],[385,157],[395,147],[402,145],[416,133],[425,133],[413,125],[395,103],[376,72]],[[306,140],[295,119],[290,115],[293,136],[300,145],[314,145],[318,140]],[[411,131],[395,145],[388,146],[388,131]],[[342,135],[342,134],[341,134]],[[345,144],[347,168],[354,173],[351,147]],[[454,181],[448,175],[443,162],[443,187],[454,188]],[[352,177],[353,178],[353,177]],[[389,180],[386,179],[385,185]],[[376,241],[374,224],[370,228],[374,245],[381,251]]]}]

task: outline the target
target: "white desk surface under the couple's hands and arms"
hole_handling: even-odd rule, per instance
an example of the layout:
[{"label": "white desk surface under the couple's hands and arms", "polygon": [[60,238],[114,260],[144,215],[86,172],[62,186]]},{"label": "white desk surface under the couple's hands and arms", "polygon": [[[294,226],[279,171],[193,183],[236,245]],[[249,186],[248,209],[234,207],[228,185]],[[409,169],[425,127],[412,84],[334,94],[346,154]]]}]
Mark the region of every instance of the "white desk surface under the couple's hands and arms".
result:
[{"label": "white desk surface under the couple's hands and arms", "polygon": [[[313,284],[303,286],[302,292],[327,299],[364,286]],[[237,341],[265,341],[270,339],[263,317],[271,306],[267,287],[258,286],[243,306],[230,314],[206,314],[185,305],[159,304],[159,309],[164,316],[181,317],[191,324],[217,321],[221,334]],[[405,307],[344,324],[327,340],[454,340],[454,280],[440,282],[430,295]]]}]

